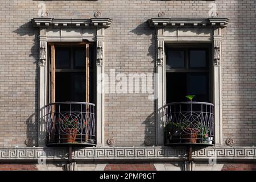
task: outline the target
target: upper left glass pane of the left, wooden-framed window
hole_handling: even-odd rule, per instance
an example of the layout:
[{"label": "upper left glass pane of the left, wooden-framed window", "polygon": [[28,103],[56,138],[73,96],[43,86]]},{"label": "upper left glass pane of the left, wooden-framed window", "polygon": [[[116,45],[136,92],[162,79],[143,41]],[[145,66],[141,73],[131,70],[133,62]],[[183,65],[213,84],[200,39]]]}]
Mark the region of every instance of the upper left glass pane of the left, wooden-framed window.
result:
[{"label": "upper left glass pane of the left, wooden-framed window", "polygon": [[67,48],[56,48],[55,61],[56,68],[69,68],[69,54],[70,51]]}]

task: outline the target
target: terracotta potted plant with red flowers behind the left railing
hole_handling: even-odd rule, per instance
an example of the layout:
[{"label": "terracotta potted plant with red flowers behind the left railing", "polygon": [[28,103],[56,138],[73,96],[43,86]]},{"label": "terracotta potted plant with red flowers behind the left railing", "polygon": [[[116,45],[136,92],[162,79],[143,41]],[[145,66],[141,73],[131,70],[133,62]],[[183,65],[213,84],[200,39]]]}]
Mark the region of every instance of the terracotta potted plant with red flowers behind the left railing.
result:
[{"label": "terracotta potted plant with red flowers behind the left railing", "polygon": [[77,119],[71,118],[71,116],[67,115],[62,121],[63,125],[63,134],[62,139],[64,143],[74,143],[76,141],[77,135]]}]

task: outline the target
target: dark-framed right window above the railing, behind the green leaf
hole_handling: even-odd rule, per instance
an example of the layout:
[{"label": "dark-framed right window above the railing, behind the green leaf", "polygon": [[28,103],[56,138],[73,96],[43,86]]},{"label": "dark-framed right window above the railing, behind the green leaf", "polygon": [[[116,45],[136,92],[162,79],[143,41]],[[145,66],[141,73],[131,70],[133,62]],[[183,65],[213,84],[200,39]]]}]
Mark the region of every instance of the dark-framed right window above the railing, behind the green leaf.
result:
[{"label": "dark-framed right window above the railing, behind the green leaf", "polygon": [[166,45],[166,98],[167,103],[187,101],[210,102],[210,45]]}]

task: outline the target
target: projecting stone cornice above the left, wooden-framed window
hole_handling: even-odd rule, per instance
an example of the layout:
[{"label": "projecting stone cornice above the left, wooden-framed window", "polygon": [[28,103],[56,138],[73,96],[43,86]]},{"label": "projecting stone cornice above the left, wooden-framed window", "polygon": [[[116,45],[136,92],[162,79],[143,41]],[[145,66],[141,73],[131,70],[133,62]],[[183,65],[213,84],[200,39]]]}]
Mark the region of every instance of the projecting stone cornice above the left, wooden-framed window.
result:
[{"label": "projecting stone cornice above the left, wooden-framed window", "polygon": [[34,27],[109,27],[112,23],[110,18],[88,18],[88,19],[55,19],[55,18],[33,18]]}]

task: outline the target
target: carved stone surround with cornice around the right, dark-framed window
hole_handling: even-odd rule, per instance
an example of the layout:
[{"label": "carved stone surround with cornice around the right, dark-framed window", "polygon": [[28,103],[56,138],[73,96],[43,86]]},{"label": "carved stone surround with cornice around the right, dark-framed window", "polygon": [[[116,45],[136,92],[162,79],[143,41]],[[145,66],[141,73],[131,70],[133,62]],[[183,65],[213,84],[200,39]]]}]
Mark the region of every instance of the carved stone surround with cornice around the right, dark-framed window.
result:
[{"label": "carved stone surround with cornice around the right, dark-framed window", "polygon": [[214,142],[222,145],[221,31],[228,18],[151,18],[156,28],[156,146],[164,145],[164,110],[166,105],[166,58],[164,43],[210,43],[213,60]]}]

